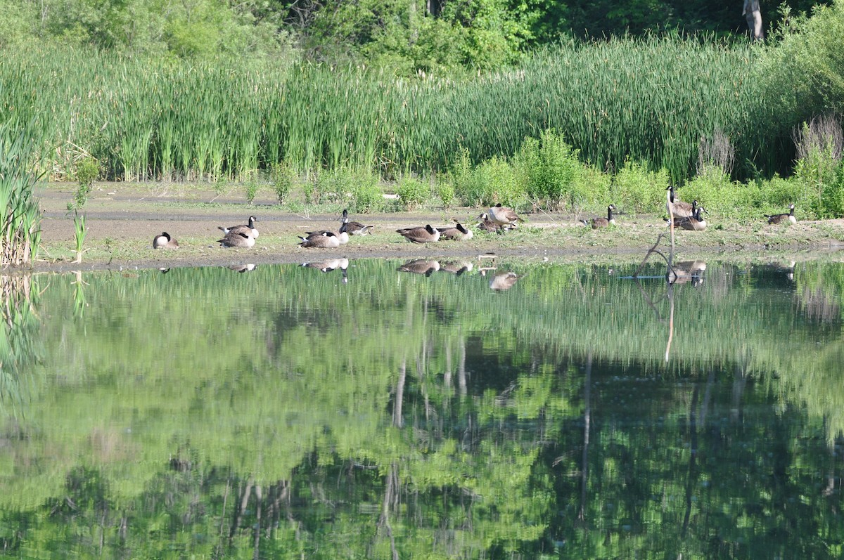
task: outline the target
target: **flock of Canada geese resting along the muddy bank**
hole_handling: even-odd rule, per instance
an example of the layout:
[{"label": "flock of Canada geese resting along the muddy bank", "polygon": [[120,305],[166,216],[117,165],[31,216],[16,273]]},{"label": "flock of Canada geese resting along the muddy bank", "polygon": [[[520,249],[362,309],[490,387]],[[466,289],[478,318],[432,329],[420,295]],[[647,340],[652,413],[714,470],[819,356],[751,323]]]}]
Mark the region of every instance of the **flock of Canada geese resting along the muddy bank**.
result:
[{"label": "flock of Canada geese resting along the muddy bank", "polygon": [[[666,189],[667,200],[665,209],[671,218],[666,218],[668,225],[673,225],[674,228],[689,229],[691,231],[703,231],[708,225],[703,214],[706,213],[706,208],[702,207],[695,200],[694,202],[683,202],[674,193],[674,186],[668,186]],[[591,226],[592,229],[608,228],[615,224],[613,213],[615,206],[610,204],[607,207],[607,217],[592,218],[591,221],[585,219],[580,220],[584,225]],[[516,229],[519,222],[524,220],[512,209],[501,204],[496,204],[490,207],[489,210],[479,215],[479,223],[476,227],[482,231],[495,232],[503,234],[509,229]],[[794,217],[794,205],[789,207],[787,213],[766,215],[768,223],[797,223],[797,218]],[[320,229],[317,231],[309,231],[304,235],[299,236],[299,244],[305,248],[320,248],[320,249],[335,249],[340,245],[345,245],[349,242],[351,235],[367,235],[370,234],[373,226],[364,225],[360,222],[349,220],[348,209],[343,211],[343,216],[339,218],[340,227],[337,230]],[[222,230],[223,239],[217,240],[222,247],[252,247],[255,245],[255,240],[258,237],[258,230],[255,223],[258,219],[255,216],[249,217],[249,222],[242,225],[235,225],[230,227],[219,226]],[[436,243],[439,240],[456,240],[466,241],[473,237],[471,229],[466,228],[462,223],[455,220],[455,224],[443,228],[435,228],[430,223],[424,226],[416,226],[412,228],[397,229],[396,232],[404,239],[412,243]],[[163,232],[153,238],[154,249],[176,249],[179,242],[170,237],[170,234]]]}]

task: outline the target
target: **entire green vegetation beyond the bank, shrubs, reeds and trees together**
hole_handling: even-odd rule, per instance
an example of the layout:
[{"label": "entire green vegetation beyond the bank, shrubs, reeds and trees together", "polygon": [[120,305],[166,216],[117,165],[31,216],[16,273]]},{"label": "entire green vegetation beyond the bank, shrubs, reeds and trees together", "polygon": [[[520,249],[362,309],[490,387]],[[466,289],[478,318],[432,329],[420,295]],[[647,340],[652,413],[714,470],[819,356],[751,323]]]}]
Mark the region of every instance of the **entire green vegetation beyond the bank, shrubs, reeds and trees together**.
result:
[{"label": "entire green vegetation beyond the bank, shrubs, reeds and trees together", "polygon": [[27,131],[19,165],[78,180],[69,209],[97,177],[246,181],[247,202],[262,177],[359,213],[382,181],[406,207],[652,213],[672,182],[726,217],[844,213],[844,0],[784,8],[766,45],[684,35],[711,29],[684,10],[673,33],[555,36],[585,13],[655,24],[587,4],[209,0],[127,30],[149,6],[0,0],[0,124]]}]

